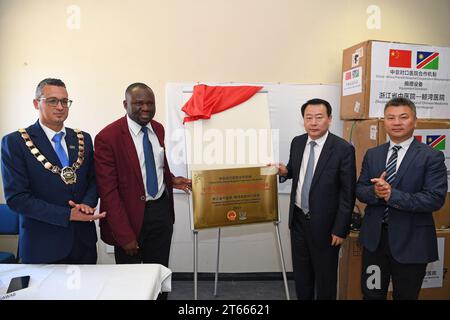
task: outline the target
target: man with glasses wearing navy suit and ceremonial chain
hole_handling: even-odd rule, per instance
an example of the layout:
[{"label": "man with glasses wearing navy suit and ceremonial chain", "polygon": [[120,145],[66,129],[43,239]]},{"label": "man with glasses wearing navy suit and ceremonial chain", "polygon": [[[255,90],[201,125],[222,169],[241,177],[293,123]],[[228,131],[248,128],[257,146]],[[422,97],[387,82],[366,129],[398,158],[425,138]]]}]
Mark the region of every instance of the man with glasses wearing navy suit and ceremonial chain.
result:
[{"label": "man with glasses wearing navy suit and ceremonial chain", "polygon": [[8,206],[20,214],[23,263],[95,264],[98,202],[89,134],[64,126],[72,101],[59,79],[44,79],[33,100],[39,120],[2,139]]}]

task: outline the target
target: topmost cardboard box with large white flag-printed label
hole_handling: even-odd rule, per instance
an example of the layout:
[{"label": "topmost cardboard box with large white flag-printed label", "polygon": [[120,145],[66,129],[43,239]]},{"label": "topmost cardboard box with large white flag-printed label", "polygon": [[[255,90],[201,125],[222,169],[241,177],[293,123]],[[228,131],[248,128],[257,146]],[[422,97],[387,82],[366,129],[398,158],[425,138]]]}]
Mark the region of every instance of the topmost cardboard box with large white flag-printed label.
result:
[{"label": "topmost cardboard box with large white flag-printed label", "polygon": [[421,119],[450,118],[450,48],[365,41],[343,52],[341,119],[383,117],[404,96]]}]

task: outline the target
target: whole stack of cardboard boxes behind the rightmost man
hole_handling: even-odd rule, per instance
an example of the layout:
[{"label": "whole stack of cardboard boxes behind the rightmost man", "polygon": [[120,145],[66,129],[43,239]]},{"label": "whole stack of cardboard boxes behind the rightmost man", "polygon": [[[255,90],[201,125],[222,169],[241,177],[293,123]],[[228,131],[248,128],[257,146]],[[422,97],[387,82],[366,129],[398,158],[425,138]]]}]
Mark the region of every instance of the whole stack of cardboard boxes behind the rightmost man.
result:
[{"label": "whole stack of cardboard boxes behind the rightmost man", "polygon": [[[344,50],[342,71],[340,115],[344,138],[355,146],[358,175],[366,151],[388,140],[382,119],[384,105],[400,96],[416,104],[419,120],[414,136],[444,152],[450,175],[446,141],[450,137],[450,48],[366,41]],[[365,205],[359,201],[356,205],[364,213]],[[445,239],[442,259],[446,270],[450,265],[450,193],[433,216],[438,237]],[[353,233],[342,250],[339,299],[361,298],[360,249]],[[443,284],[445,288],[423,289],[420,298],[450,299],[448,275]]]}]

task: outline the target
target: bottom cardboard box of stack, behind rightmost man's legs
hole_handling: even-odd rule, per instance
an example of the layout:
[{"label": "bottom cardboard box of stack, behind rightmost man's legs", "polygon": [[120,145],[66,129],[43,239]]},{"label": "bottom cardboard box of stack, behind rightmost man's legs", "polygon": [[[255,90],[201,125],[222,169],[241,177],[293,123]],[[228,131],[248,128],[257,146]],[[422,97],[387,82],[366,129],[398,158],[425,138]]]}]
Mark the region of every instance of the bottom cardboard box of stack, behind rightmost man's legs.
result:
[{"label": "bottom cardboard box of stack, behind rightmost man's legs", "polygon": [[[419,294],[420,300],[450,300],[450,229],[436,230],[436,233],[438,239],[442,238],[444,242],[442,287],[423,288]],[[339,259],[339,300],[362,299],[362,246],[358,242],[358,235],[358,232],[351,232],[342,245]],[[388,292],[388,299],[392,299],[392,292]]]}]

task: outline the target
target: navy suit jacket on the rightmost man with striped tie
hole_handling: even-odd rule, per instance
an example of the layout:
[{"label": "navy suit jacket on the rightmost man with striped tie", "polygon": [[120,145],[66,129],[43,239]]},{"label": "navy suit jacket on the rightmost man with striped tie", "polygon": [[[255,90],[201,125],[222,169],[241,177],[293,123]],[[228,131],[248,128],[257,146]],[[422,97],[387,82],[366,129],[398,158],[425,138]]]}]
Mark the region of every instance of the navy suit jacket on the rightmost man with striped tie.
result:
[{"label": "navy suit jacket on the rightmost man with striped tie", "polygon": [[356,196],[367,203],[360,242],[375,251],[380,242],[384,208],[389,206],[389,246],[400,263],[428,263],[438,259],[436,231],[432,212],[444,204],[447,169],[444,154],[413,140],[392,183],[386,203],[375,196],[372,178],[385,170],[389,143],[367,151],[359,177]]}]

